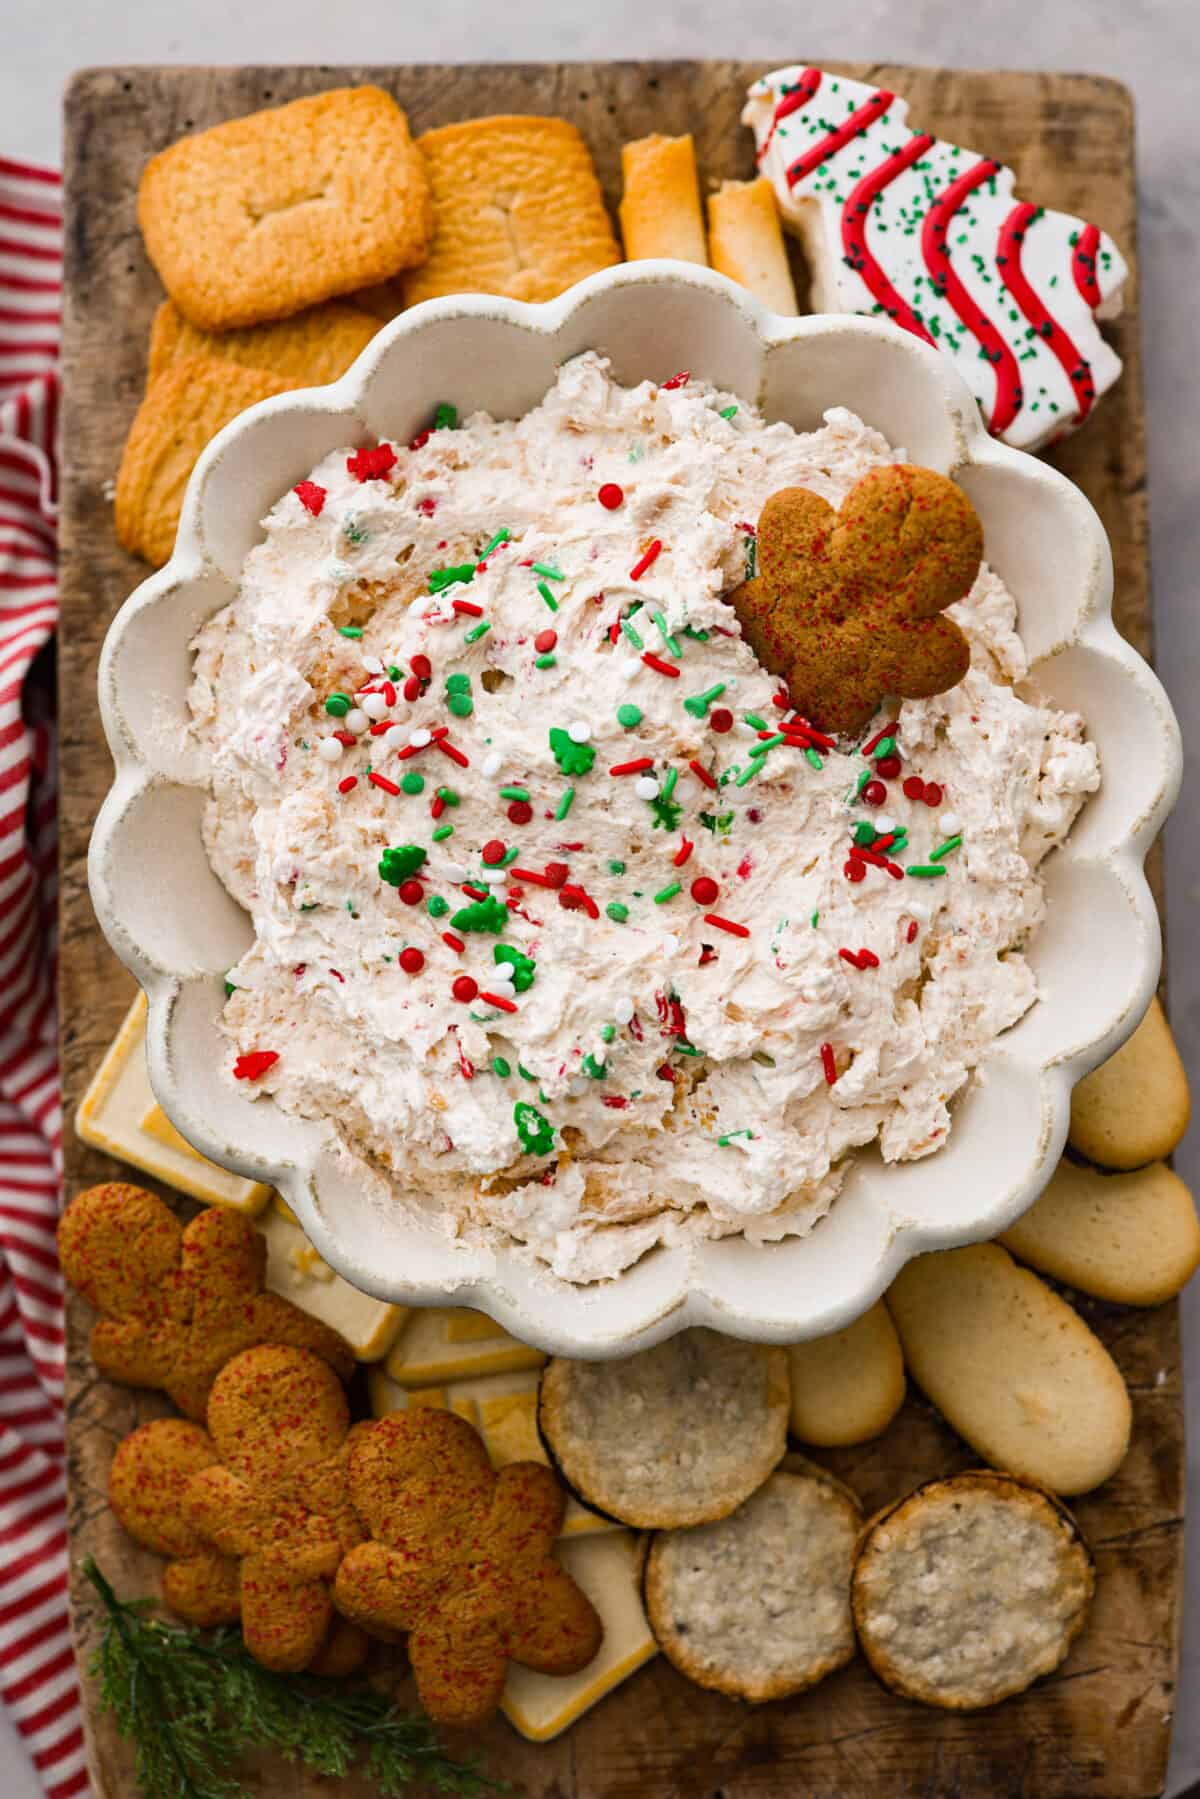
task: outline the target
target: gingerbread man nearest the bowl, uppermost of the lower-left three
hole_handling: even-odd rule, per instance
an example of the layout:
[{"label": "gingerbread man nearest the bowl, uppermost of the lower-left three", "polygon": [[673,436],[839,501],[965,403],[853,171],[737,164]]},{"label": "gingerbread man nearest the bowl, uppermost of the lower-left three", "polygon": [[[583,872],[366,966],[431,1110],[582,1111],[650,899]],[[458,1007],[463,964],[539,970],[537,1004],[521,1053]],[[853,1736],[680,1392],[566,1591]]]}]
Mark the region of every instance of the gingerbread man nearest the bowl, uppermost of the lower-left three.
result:
[{"label": "gingerbread man nearest the bowl, uppermost of the lower-left three", "polygon": [[146,1187],[88,1187],[58,1227],[63,1274],[101,1319],[92,1360],[108,1380],[162,1387],[203,1419],[218,1371],[254,1344],[324,1356],[344,1380],[347,1344],[326,1324],[263,1290],[266,1243],[248,1218],[209,1207],[184,1227]]}]

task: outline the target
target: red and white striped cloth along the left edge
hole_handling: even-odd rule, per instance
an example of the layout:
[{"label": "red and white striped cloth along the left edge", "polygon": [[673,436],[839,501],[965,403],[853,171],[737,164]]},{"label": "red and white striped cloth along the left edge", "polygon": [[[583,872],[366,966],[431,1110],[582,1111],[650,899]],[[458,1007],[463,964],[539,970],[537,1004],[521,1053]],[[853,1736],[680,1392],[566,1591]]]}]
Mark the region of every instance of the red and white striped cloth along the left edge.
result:
[{"label": "red and white striped cloth along the left edge", "polygon": [[50,1799],[88,1792],[67,1621],[54,1036],[54,426],[61,189],[0,158],[0,1695]]}]

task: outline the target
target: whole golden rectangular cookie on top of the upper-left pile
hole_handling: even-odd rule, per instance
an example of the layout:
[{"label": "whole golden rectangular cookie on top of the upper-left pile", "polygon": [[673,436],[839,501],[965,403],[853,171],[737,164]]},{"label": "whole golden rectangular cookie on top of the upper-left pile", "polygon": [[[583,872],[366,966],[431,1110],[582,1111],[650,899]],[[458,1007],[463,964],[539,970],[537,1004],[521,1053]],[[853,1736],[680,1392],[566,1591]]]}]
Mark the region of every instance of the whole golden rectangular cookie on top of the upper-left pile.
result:
[{"label": "whole golden rectangular cookie on top of the upper-left pile", "polygon": [[255,326],[423,261],[434,209],[381,88],[333,88],[184,137],[146,166],[146,250],[194,326]]}]

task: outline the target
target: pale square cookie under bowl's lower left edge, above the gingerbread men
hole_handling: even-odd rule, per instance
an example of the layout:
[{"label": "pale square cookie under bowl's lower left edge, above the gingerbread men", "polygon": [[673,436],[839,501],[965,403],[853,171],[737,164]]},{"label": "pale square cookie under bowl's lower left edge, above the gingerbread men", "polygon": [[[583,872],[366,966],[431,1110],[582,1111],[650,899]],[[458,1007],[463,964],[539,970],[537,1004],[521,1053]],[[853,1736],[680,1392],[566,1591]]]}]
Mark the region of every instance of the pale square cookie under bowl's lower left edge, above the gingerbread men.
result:
[{"label": "pale square cookie under bowl's lower left edge, above the gingerbread men", "polygon": [[79,1101],[76,1132],[85,1142],[130,1162],[157,1180],[189,1193],[205,1205],[228,1205],[239,1213],[261,1213],[272,1189],[259,1180],[243,1180],[227,1168],[205,1160],[180,1137],[155,1099],[146,1072],[146,995],[139,993],[124,1015],[92,1085]]}]

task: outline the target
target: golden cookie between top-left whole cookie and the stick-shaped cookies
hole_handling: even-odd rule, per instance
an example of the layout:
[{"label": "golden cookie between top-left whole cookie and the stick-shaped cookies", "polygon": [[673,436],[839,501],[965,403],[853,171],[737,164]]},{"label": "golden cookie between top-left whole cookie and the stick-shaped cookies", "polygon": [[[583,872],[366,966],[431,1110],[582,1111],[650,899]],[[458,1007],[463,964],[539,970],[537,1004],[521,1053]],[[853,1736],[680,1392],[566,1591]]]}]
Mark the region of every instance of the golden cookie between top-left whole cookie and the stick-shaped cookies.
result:
[{"label": "golden cookie between top-left whole cookie and the stick-shaped cookies", "polygon": [[468,119],[426,131],[437,230],[405,304],[439,293],[552,300],[621,261],[588,148],[565,119]]}]

